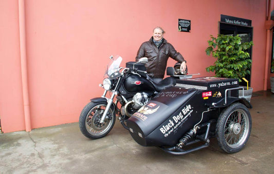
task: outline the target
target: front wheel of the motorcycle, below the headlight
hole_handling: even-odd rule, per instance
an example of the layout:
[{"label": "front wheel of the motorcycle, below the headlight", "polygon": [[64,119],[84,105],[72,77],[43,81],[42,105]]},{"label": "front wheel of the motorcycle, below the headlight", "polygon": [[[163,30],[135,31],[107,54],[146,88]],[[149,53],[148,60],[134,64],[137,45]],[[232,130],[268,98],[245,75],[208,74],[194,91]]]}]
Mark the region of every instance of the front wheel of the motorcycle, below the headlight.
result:
[{"label": "front wheel of the motorcycle, below the headlight", "polygon": [[113,106],[109,108],[105,122],[102,124],[99,123],[106,105],[106,102],[90,102],[83,108],[79,118],[79,127],[87,138],[102,138],[113,128],[116,120]]}]

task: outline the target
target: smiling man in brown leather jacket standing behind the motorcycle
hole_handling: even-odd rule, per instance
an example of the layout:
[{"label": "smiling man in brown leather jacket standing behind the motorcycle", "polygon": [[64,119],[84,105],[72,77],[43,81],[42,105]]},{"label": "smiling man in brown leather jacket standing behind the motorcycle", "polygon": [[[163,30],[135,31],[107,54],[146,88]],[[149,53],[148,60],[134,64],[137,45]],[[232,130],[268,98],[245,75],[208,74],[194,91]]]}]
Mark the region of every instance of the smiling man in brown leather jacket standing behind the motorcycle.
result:
[{"label": "smiling man in brown leather jacket standing behind the motorcycle", "polygon": [[187,68],[184,57],[163,38],[164,33],[161,27],[154,28],[152,37],[149,41],[142,43],[136,56],[136,62],[141,57],[148,57],[149,62],[145,64],[147,76],[155,83],[159,83],[165,76],[169,57],[181,63],[181,72],[186,71]]}]

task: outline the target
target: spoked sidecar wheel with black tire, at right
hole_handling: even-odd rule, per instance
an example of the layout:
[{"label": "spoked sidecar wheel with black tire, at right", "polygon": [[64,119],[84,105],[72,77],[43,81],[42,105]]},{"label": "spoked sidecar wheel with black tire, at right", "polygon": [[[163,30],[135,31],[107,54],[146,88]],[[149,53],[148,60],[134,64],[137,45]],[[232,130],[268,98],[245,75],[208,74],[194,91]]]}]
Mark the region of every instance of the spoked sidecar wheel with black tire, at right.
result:
[{"label": "spoked sidecar wheel with black tire, at right", "polygon": [[216,125],[218,145],[227,153],[240,151],[246,145],[251,132],[251,116],[247,107],[233,103],[225,108]]}]

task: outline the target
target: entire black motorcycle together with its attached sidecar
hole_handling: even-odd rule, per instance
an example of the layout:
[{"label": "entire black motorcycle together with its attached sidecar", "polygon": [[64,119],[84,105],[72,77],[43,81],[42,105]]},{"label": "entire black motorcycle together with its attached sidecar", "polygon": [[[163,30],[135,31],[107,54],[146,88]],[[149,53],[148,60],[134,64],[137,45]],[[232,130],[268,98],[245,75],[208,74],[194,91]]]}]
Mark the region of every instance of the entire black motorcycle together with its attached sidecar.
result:
[{"label": "entire black motorcycle together with its attached sidecar", "polygon": [[[132,138],[142,146],[183,155],[210,145],[216,137],[227,153],[240,151],[251,132],[251,104],[239,96],[238,79],[192,78],[168,67],[161,83],[145,78],[144,63],[112,59],[101,98],[92,99],[79,118],[82,133],[91,139],[104,137],[113,127],[116,114]],[[110,99],[107,91],[112,92]],[[113,103],[114,96],[117,100]],[[118,109],[118,102],[121,108]]]}]

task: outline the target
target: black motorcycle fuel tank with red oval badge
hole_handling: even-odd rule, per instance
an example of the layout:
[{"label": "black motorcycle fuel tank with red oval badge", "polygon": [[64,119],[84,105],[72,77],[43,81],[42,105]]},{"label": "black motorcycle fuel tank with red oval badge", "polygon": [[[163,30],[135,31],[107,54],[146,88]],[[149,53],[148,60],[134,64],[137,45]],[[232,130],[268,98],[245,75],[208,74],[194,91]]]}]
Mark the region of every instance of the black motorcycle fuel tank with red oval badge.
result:
[{"label": "black motorcycle fuel tank with red oval badge", "polygon": [[125,78],[123,88],[127,93],[155,91],[155,88],[150,81],[135,74],[130,74]]}]

